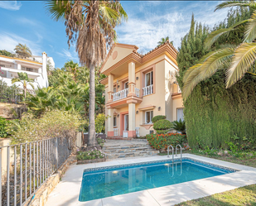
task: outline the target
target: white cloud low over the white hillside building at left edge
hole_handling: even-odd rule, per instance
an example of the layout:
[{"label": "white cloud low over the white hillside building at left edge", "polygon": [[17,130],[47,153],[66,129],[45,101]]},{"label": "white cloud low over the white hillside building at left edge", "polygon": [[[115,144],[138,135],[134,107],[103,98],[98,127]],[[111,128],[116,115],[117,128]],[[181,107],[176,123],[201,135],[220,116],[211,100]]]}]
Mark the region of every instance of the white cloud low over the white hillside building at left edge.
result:
[{"label": "white cloud low over the white hillside building at left edge", "polygon": [[27,40],[21,36],[7,32],[0,33],[0,39],[1,50],[13,51],[15,46],[21,43],[26,44],[30,48],[33,55],[41,55],[41,47],[35,41]]}]

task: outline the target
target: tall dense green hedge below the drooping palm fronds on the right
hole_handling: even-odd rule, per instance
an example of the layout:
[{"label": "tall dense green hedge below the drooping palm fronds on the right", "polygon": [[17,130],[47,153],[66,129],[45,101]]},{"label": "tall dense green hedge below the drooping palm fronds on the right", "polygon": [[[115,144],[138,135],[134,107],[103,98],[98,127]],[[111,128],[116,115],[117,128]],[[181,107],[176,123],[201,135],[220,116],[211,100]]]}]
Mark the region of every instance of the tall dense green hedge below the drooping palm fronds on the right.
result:
[{"label": "tall dense green hedge below the drooping palm fronds on the right", "polygon": [[225,89],[220,72],[197,85],[184,103],[189,145],[227,148],[226,142],[234,141],[234,137],[236,141],[246,138],[255,145],[256,78],[245,74],[237,84]]}]

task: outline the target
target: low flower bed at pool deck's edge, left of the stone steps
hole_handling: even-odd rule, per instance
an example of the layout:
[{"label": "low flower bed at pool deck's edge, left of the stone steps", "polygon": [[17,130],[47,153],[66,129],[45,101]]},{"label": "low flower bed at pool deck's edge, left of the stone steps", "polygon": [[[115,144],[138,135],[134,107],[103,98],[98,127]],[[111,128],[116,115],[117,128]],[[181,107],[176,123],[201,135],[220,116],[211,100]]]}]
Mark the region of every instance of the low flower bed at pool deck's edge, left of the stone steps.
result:
[{"label": "low flower bed at pool deck's edge, left of the stone steps", "polygon": [[105,161],[105,155],[97,149],[91,151],[77,151],[77,164],[86,164]]}]

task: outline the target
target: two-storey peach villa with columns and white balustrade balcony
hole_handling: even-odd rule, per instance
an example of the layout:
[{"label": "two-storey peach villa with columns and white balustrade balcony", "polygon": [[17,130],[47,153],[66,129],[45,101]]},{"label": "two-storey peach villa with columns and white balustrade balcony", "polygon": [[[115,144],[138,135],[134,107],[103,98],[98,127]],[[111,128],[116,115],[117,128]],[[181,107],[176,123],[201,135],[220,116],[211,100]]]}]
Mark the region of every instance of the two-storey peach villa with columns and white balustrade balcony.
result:
[{"label": "two-storey peach villa with columns and white balustrade balcony", "polygon": [[100,68],[105,84],[108,137],[145,136],[152,117],[183,119],[181,90],[176,83],[177,50],[168,42],[146,55],[133,45],[114,44]]}]

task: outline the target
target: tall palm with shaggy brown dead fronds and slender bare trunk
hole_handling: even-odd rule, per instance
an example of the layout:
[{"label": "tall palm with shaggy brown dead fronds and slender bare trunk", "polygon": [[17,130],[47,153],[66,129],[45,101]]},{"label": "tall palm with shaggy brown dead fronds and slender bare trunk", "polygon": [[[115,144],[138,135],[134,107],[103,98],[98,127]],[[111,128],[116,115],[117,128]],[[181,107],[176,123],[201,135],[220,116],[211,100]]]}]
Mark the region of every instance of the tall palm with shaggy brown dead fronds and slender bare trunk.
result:
[{"label": "tall palm with shaggy brown dead fronds and slender bare trunk", "polygon": [[[115,26],[126,20],[127,14],[118,1],[51,1],[46,8],[52,17],[65,19],[68,44],[76,41],[81,65],[89,68],[89,146],[95,146],[95,82],[94,69],[106,55],[106,49],[116,41]],[[76,40],[76,35],[77,40]]]}]

